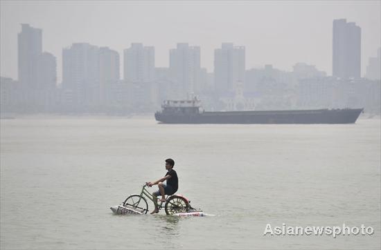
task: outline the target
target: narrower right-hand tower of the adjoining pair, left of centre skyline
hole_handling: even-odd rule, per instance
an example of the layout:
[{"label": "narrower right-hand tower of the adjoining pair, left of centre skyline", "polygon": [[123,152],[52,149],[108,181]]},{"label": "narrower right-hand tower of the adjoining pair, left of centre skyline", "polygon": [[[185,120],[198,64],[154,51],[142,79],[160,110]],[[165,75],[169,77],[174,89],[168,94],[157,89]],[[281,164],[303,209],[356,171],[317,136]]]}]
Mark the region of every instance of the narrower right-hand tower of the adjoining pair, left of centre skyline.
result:
[{"label": "narrower right-hand tower of the adjoining pair, left of centre skyline", "polygon": [[107,93],[111,89],[111,84],[116,84],[120,79],[119,53],[108,47],[99,49],[99,91],[100,100],[107,99]]}]

